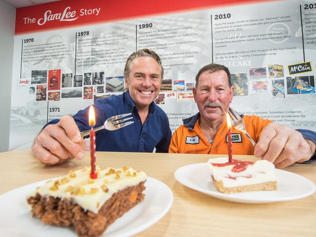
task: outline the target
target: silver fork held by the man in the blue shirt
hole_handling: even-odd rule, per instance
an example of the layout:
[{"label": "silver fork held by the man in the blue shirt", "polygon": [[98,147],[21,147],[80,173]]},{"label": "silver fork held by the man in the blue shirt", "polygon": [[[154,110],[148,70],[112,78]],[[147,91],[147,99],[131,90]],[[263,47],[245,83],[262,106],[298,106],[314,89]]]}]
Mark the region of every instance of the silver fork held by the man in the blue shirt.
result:
[{"label": "silver fork held by the man in the blue shirt", "polygon": [[[129,121],[129,122],[124,122],[124,121],[127,121],[129,119],[133,119],[133,117],[129,117],[129,118],[125,118],[125,119],[121,119],[121,118],[124,118],[124,117],[129,116],[129,115],[132,115],[132,114],[129,113],[129,114],[112,116],[112,117],[106,119],[104,125],[102,125],[101,127],[94,128],[93,130],[94,130],[94,132],[99,131],[101,129],[113,131],[113,130],[117,130],[117,129],[126,127],[129,124],[132,124],[134,121]],[[80,134],[82,137],[84,137],[86,135],[89,135],[89,133],[90,133],[90,130],[86,130],[86,131],[81,132]]]}]

